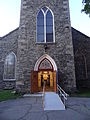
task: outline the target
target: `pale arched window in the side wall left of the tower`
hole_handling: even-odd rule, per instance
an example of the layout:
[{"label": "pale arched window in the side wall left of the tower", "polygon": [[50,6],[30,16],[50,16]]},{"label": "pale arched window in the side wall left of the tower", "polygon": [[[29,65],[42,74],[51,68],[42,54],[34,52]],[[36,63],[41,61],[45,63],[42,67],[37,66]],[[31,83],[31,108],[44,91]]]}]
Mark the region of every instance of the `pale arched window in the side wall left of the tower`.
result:
[{"label": "pale arched window in the side wall left of the tower", "polygon": [[15,79],[15,64],[16,64],[16,56],[14,53],[10,53],[5,59],[4,80]]}]

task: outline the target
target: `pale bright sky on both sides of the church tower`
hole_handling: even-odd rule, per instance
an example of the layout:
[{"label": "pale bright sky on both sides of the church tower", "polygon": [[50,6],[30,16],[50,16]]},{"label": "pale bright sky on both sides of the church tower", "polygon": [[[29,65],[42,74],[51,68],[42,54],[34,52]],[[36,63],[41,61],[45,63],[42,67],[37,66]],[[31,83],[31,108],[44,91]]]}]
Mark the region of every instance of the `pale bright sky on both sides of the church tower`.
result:
[{"label": "pale bright sky on both sides of the church tower", "polygon": [[[21,0],[0,0],[0,37],[19,26]],[[82,0],[69,0],[71,26],[90,37],[90,18],[81,13]]]}]

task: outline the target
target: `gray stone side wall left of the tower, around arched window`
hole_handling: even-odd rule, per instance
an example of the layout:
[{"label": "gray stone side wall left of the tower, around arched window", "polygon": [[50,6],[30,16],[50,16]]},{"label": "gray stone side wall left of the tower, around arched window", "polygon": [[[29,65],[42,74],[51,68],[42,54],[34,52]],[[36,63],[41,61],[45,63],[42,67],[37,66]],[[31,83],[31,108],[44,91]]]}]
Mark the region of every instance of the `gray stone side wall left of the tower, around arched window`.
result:
[{"label": "gray stone side wall left of the tower, around arched window", "polygon": [[[4,62],[11,52],[14,52],[17,56],[17,47],[18,47],[18,28],[14,31],[10,32],[9,34],[3,36],[0,39],[0,88],[15,88],[15,81],[4,81],[3,80],[3,73],[4,73]],[[13,83],[14,82],[14,83]]]}]

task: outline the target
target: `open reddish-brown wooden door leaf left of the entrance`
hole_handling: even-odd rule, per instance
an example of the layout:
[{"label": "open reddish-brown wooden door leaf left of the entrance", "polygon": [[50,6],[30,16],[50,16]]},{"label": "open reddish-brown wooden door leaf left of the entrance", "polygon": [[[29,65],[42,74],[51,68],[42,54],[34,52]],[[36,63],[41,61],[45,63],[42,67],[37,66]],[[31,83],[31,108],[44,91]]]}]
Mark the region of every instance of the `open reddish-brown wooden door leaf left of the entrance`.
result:
[{"label": "open reddish-brown wooden door leaf left of the entrance", "polygon": [[31,72],[31,93],[38,92],[38,72],[32,71]]}]

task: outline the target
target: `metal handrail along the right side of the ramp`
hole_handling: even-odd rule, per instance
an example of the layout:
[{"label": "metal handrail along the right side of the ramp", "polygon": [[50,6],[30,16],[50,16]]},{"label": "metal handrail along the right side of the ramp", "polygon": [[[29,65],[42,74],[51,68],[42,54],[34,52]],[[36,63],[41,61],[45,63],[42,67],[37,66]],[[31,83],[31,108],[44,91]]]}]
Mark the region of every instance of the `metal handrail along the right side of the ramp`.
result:
[{"label": "metal handrail along the right side of the ramp", "polygon": [[57,84],[57,90],[61,100],[63,101],[63,104],[65,105],[65,101],[67,100],[67,97],[69,95],[58,84]]}]

